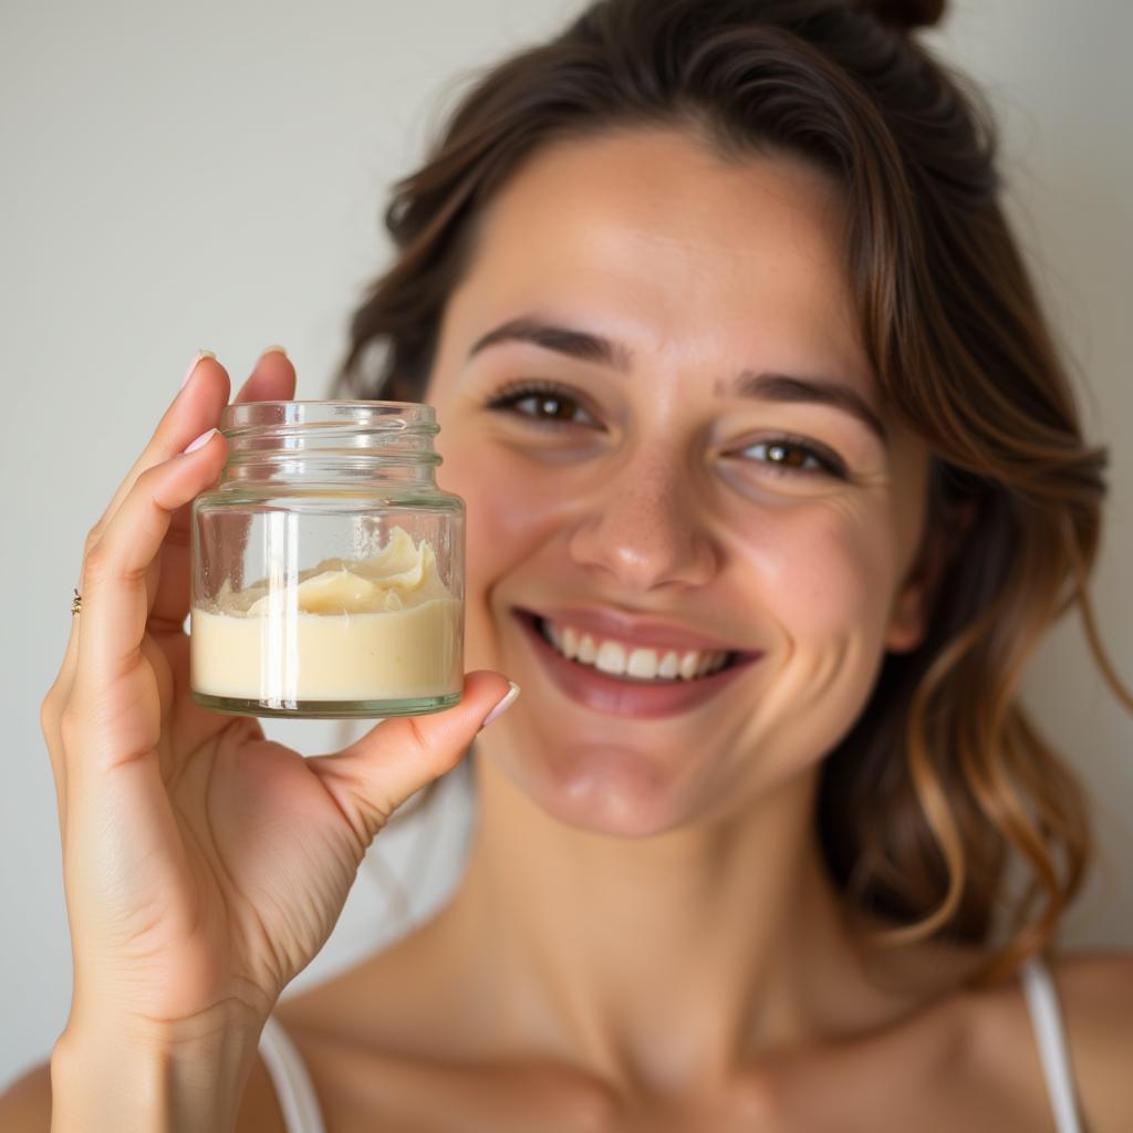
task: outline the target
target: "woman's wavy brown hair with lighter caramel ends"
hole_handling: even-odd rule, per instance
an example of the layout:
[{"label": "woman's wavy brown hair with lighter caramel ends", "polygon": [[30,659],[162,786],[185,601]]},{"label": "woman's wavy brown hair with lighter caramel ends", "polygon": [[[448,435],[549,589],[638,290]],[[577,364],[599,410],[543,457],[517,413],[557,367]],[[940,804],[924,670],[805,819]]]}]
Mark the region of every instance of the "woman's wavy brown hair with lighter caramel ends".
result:
[{"label": "woman's wavy brown hair with lighter caramel ends", "polygon": [[[988,947],[1042,947],[1089,857],[1081,792],[1017,700],[1043,630],[1087,597],[1104,453],[1079,416],[998,202],[979,96],[909,36],[943,0],[602,0],[467,94],[395,189],[398,259],[355,314],[339,392],[419,400],[485,202],[537,147],[683,126],[725,153],[802,154],[841,184],[880,392],[934,457],[929,529],[953,533],[926,640],[888,655],[824,765],[817,820],[852,909]],[[382,351],[376,366],[370,352]],[[1030,884],[1007,892],[1016,858]],[[1007,943],[991,951],[1002,913]]]}]

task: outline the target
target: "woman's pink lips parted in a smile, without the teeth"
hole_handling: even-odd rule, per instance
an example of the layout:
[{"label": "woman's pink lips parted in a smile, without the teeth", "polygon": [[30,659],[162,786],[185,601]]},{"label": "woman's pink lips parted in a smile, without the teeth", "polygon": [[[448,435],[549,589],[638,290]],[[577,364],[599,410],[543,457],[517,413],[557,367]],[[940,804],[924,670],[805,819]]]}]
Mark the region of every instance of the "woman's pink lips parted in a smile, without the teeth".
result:
[{"label": "woman's pink lips parted in a smile, without the teeth", "polygon": [[570,624],[586,629],[603,638],[613,638],[628,645],[649,648],[680,647],[710,649],[727,653],[727,663],[717,672],[693,680],[634,681],[612,676],[597,668],[570,661],[544,637],[539,614],[516,610],[540,668],[552,683],[576,704],[595,712],[634,719],[675,716],[701,707],[724,691],[741,673],[763,656],[759,653],[731,649],[726,642],[661,623],[633,622],[616,614],[594,611],[556,610],[551,616],[569,620]]}]

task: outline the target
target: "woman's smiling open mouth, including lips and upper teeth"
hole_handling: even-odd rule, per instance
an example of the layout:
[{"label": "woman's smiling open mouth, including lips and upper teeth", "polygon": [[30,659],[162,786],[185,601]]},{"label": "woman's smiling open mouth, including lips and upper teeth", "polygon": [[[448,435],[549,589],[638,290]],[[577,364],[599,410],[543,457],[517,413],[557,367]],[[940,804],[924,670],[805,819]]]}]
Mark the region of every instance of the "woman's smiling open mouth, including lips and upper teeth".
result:
[{"label": "woman's smiling open mouth, including lips and upper teeth", "polygon": [[645,645],[531,611],[517,610],[516,615],[560,691],[617,716],[671,716],[697,707],[761,656],[661,640]]}]

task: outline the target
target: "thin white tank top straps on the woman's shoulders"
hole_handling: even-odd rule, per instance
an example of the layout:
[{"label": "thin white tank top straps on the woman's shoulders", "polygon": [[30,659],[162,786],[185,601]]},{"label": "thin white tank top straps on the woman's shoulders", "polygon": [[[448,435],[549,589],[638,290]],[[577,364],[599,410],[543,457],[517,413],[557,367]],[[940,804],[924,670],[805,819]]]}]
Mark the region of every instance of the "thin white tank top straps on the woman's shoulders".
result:
[{"label": "thin white tank top straps on the woman's shoulders", "polygon": [[[1066,1033],[1050,971],[1041,960],[1031,960],[1021,969],[1020,981],[1047,1081],[1055,1130],[1057,1133],[1082,1133]],[[298,1050],[275,1019],[269,1019],[264,1025],[259,1054],[275,1083],[287,1133],[326,1133],[310,1076]]]}]

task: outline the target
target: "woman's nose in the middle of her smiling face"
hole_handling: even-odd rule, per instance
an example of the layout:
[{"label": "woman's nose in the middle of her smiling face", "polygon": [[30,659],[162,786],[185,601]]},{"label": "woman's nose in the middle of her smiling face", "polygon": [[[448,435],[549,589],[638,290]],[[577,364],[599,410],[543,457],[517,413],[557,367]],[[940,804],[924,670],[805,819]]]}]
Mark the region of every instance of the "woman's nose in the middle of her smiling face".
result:
[{"label": "woman's nose in the middle of her smiling face", "polygon": [[659,460],[628,461],[588,497],[571,556],[627,590],[704,586],[718,559],[688,480]]}]

